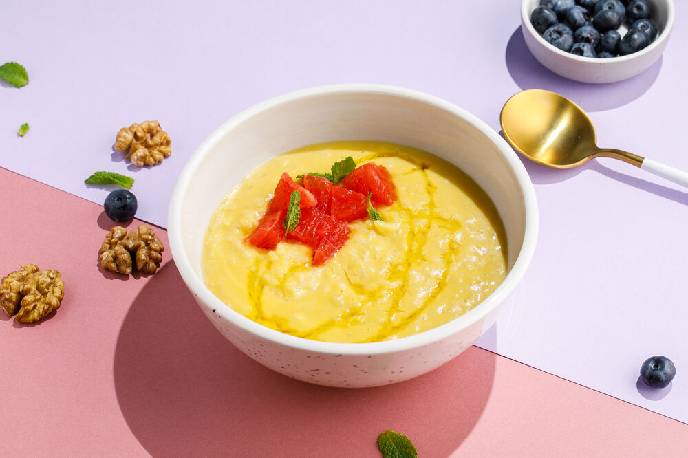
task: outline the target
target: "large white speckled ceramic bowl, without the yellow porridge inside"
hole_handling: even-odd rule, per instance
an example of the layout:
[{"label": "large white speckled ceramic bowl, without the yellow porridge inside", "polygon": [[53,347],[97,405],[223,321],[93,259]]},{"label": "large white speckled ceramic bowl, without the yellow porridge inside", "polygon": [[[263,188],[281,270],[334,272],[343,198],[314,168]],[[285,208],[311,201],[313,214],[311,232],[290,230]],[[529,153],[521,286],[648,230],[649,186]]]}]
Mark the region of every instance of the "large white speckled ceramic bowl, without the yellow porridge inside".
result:
[{"label": "large white speckled ceramic bowl, without the yellow porridge inside", "polygon": [[[241,316],[204,284],[202,241],[225,195],[270,157],[334,140],[383,140],[444,157],[491,196],[506,226],[508,274],[473,310],[429,331],[385,342],[317,342]],[[173,191],[171,252],[202,311],[230,342],[292,378],[328,386],[377,386],[426,373],[468,348],[490,327],[524,275],[537,237],[537,203],[522,162],[484,122],[427,94],[380,85],[304,89],[262,102],[222,124],[193,153]],[[193,342],[190,342],[193,345]]]}]

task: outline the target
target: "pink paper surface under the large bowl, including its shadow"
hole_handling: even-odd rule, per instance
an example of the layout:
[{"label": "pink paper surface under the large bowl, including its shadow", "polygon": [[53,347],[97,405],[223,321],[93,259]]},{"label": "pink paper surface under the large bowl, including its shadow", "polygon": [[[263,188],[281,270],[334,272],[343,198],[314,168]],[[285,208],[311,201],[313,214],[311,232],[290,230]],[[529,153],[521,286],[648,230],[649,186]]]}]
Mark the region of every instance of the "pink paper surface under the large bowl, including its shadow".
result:
[{"label": "pink paper surface under the large bowl, including its shadow", "polygon": [[100,270],[113,224],[100,206],[1,168],[0,195],[13,209],[0,218],[0,272],[34,262],[60,270],[66,290],[37,325],[0,314],[0,456],[379,457],[390,428],[426,458],[688,446],[685,424],[477,347],[391,386],[297,382],[212,327],[169,253],[153,276]]}]

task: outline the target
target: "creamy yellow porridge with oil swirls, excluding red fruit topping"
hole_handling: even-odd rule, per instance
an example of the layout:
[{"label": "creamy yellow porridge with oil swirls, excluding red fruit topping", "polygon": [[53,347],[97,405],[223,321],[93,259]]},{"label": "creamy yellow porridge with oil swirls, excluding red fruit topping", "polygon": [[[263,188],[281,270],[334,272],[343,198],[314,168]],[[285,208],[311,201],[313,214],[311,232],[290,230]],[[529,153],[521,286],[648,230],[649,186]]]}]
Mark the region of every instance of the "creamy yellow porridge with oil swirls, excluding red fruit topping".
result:
[{"label": "creamy yellow porridge with oil swirls, excluding red fruit topping", "polygon": [[[244,242],[282,172],[325,173],[349,155],[391,173],[398,201],[379,209],[384,221],[350,223],[349,241],[319,267],[300,243],[268,251]],[[202,263],[208,288],[257,323],[314,340],[376,342],[427,331],[475,307],[503,281],[505,252],[495,206],[449,162],[385,142],[330,142],[252,171],[215,210]]]}]

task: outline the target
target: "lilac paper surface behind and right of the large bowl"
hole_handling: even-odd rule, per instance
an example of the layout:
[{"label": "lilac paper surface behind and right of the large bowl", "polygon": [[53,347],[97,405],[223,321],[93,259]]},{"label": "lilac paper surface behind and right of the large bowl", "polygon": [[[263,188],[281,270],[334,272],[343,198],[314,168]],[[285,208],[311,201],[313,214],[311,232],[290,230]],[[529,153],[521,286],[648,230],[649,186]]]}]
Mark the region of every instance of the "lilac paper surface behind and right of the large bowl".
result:
[{"label": "lilac paper surface behind and right of the large bowl", "polygon": [[[550,89],[590,113],[600,146],[688,170],[687,13],[676,2],[674,34],[646,72],[587,85],[535,61],[517,1],[5,1],[0,61],[22,63],[30,83],[0,83],[0,165],[98,204],[108,190],[86,177],[131,175],[137,216],[164,227],[184,161],[228,118],[294,89],[383,83],[440,96],[496,131],[511,95]],[[121,127],[148,119],[173,155],[137,168],[111,147]],[[526,168],[537,252],[480,345],[688,422],[685,189],[613,160]],[[636,386],[654,354],[678,368],[662,391]]]}]

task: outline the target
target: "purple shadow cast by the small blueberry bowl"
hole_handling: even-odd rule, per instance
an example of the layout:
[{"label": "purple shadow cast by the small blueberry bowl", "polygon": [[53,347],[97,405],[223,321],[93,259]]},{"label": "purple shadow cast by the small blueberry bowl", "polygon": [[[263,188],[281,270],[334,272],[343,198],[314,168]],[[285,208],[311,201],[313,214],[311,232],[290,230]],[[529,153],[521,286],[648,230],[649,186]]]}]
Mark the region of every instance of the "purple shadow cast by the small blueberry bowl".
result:
[{"label": "purple shadow cast by the small blueberry bowl", "polygon": [[659,75],[662,57],[645,72],[618,83],[579,83],[539,63],[528,50],[519,26],[506,44],[506,68],[522,90],[546,89],[573,100],[585,111],[604,111],[623,107],[645,94]]}]

